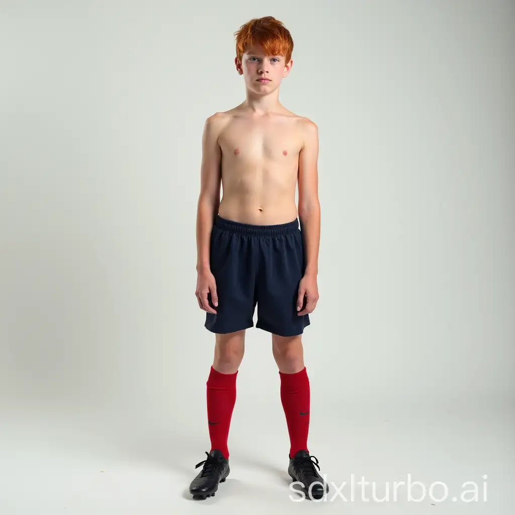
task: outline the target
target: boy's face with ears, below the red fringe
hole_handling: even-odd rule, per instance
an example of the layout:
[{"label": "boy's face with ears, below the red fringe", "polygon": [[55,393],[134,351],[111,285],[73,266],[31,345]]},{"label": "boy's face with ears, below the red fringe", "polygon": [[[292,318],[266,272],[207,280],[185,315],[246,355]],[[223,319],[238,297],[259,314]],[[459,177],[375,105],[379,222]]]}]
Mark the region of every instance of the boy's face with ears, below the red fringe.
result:
[{"label": "boy's face with ears, below the red fringe", "polygon": [[246,87],[258,94],[266,95],[279,88],[293,65],[285,62],[284,56],[267,56],[263,48],[247,48],[242,60],[235,59],[236,70],[245,79]]}]

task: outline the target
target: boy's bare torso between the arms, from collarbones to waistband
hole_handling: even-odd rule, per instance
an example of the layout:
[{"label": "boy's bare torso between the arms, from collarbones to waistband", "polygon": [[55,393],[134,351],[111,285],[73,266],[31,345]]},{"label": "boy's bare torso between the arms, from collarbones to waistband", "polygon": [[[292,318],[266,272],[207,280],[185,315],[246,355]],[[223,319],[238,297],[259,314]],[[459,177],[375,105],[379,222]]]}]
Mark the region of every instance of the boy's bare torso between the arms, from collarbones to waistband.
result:
[{"label": "boy's bare torso between the arms, from collarbones to waistband", "polygon": [[253,225],[297,218],[295,192],[306,118],[287,110],[218,113],[222,218]]}]

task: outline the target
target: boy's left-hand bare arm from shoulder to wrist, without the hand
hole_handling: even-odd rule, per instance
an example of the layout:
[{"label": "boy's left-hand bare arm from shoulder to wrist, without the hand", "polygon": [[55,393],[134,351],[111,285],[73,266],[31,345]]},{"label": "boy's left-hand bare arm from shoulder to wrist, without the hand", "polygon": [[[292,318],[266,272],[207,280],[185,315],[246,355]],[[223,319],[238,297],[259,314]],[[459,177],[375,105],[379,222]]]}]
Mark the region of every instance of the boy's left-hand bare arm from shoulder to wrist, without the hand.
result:
[{"label": "boy's left-hand bare arm from shoulder to wrist, without the hand", "polygon": [[220,204],[221,149],[218,145],[220,119],[216,114],[204,123],[200,194],[197,203],[197,271],[210,271],[210,238]]}]

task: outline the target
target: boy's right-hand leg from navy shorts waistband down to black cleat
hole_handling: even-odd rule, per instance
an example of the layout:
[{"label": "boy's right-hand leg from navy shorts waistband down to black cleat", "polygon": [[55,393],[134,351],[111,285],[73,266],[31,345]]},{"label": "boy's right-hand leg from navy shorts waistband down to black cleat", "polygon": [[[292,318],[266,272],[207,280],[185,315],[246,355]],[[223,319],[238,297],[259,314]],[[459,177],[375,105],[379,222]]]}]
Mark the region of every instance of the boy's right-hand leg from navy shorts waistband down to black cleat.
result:
[{"label": "boy's right-hand leg from navy shorts waistband down to black cleat", "polygon": [[301,338],[310,319],[297,312],[299,283],[305,270],[298,221],[267,229],[260,239],[259,251],[256,327],[272,333],[273,355],[281,378],[281,402],[290,437],[288,473],[304,485],[307,495],[320,499],[329,488],[316,470],[320,469],[317,458],[310,456],[307,449],[310,382]]}]

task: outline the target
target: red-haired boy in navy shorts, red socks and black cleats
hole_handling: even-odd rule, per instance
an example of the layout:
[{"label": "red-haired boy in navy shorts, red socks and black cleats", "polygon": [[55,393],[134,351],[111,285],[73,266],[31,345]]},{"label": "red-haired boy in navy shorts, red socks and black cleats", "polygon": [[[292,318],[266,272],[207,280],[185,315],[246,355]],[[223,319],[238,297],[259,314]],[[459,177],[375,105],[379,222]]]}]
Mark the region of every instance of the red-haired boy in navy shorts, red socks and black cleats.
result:
[{"label": "red-haired boy in navy shorts, red socks and black cleats", "polygon": [[211,450],[197,465],[203,467],[190,492],[214,495],[229,475],[236,376],[257,305],[256,328],[271,334],[279,369],[288,473],[302,483],[295,488],[307,493],[311,485],[320,499],[328,488],[307,448],[310,383],[302,347],[318,300],[318,129],[279,102],[281,81],[293,65],[293,40],[283,24],[272,16],[254,19],[235,36],[246,100],[210,116],[202,136],[196,296],[207,312],[205,327],[216,336],[207,381]]}]

